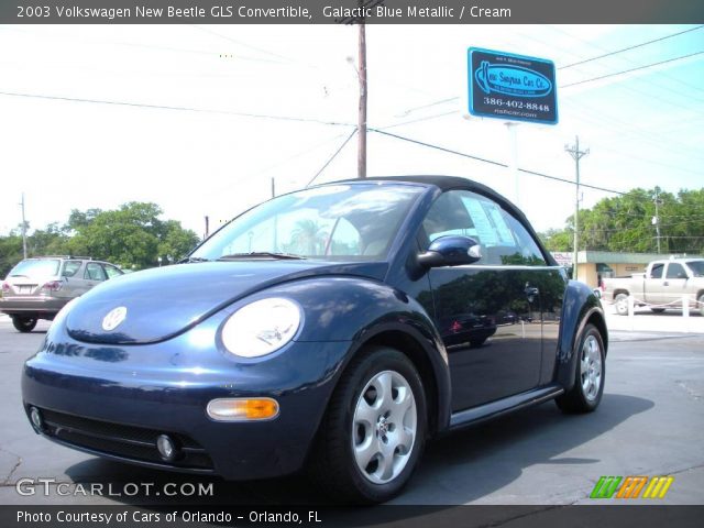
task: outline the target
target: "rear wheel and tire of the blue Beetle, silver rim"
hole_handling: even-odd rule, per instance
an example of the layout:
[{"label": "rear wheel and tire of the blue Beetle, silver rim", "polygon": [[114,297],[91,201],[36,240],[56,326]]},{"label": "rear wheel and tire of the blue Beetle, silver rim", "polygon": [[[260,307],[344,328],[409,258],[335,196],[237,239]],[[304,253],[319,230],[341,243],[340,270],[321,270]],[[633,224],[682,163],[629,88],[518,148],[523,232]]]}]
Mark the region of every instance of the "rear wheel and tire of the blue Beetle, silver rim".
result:
[{"label": "rear wheel and tire of the blue Beetle, silver rim", "polygon": [[602,334],[593,324],[582,331],[575,353],[574,386],[556,399],[563,413],[591,413],[602,400],[606,363]]}]

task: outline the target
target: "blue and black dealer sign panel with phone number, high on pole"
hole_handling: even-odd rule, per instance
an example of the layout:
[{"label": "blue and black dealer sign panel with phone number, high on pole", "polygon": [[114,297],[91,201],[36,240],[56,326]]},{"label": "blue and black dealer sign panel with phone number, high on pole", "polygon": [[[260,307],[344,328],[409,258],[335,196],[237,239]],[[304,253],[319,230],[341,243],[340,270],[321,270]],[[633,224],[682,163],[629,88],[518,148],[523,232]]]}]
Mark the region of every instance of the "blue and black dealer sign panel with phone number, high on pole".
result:
[{"label": "blue and black dealer sign panel with phone number, high on pole", "polygon": [[468,66],[472,116],[558,122],[552,61],[470,47]]}]

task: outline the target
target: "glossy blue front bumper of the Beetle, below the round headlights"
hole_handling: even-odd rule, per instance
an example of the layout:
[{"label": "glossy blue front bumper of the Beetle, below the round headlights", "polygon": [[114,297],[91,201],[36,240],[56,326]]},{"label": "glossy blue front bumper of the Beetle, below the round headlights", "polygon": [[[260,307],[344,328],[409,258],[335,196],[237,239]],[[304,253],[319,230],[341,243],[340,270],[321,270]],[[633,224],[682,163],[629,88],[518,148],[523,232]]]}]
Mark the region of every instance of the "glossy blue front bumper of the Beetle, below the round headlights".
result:
[{"label": "glossy blue front bumper of the Beetle, below the round headlights", "polygon": [[[302,466],[350,345],[292,342],[270,359],[240,362],[204,339],[217,321],[121,346],[81,343],[55,327],[22,375],[25,410],[37,407],[44,420],[37,432],[114,460],[230,480]],[[215,398],[262,396],[278,402],[276,418],[222,422],[206,413]],[[162,433],[180,448],[173,462],[156,450]]]}]

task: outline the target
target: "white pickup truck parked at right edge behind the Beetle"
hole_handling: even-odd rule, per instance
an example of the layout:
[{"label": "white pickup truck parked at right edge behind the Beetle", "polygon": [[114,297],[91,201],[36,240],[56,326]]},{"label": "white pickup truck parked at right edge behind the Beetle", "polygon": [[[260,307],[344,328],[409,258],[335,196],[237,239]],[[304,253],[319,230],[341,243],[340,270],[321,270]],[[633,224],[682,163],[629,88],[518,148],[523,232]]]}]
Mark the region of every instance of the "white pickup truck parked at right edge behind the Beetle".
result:
[{"label": "white pickup truck parked at right edge behind the Beetle", "polygon": [[635,306],[650,306],[659,314],[681,309],[683,296],[691,309],[704,316],[704,258],[653,261],[645,273],[604,279],[604,298],[613,300],[622,316],[628,315],[628,297]]}]

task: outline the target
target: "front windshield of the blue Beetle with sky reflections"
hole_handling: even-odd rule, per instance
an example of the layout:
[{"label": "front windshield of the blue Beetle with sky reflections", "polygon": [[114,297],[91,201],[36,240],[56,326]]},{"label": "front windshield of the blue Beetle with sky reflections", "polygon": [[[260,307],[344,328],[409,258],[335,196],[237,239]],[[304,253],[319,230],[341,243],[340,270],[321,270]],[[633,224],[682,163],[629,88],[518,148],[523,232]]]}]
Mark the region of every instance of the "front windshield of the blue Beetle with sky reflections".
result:
[{"label": "front windshield of the blue Beetle with sky reflections", "polygon": [[416,185],[315,187],[266,201],[208,239],[191,261],[292,257],[374,261],[386,256]]}]

